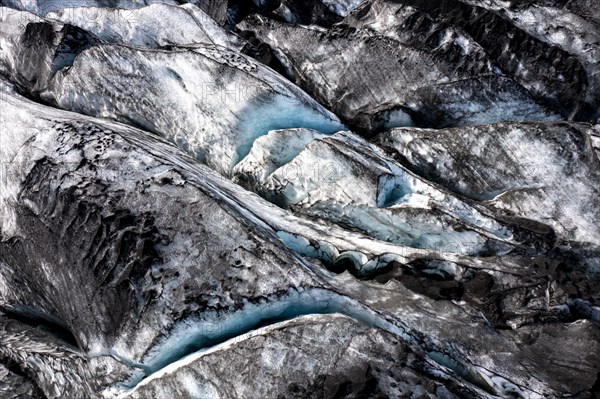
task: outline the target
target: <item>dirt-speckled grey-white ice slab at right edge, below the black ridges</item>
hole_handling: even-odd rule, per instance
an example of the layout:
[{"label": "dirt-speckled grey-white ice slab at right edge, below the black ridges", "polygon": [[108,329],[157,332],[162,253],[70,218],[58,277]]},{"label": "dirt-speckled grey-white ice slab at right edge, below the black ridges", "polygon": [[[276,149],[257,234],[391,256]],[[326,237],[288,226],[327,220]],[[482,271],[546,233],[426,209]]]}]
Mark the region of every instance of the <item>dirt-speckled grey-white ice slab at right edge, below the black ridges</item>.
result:
[{"label": "dirt-speckled grey-white ice slab at right edge, below the black ridges", "polygon": [[597,245],[600,163],[590,132],[585,124],[502,123],[394,129],[376,142],[422,176],[485,200],[505,218],[535,220],[564,240]]}]

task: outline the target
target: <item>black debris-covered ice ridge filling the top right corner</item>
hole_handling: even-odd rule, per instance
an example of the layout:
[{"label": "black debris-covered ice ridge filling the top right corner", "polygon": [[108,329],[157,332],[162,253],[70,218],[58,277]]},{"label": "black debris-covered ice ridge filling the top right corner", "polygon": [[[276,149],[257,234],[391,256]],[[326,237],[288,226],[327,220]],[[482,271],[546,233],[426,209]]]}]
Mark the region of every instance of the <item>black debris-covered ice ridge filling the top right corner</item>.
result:
[{"label": "black debris-covered ice ridge filling the top right corner", "polygon": [[[443,58],[462,59],[460,70],[487,69],[511,77],[532,99],[563,118],[590,121],[597,117],[599,105],[594,43],[600,31],[589,8],[552,0],[372,0],[347,22]],[[568,44],[577,41],[586,42],[585,54]],[[519,119],[497,119],[502,120]]]}]

